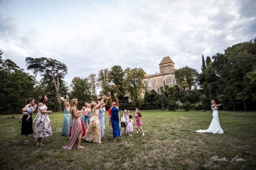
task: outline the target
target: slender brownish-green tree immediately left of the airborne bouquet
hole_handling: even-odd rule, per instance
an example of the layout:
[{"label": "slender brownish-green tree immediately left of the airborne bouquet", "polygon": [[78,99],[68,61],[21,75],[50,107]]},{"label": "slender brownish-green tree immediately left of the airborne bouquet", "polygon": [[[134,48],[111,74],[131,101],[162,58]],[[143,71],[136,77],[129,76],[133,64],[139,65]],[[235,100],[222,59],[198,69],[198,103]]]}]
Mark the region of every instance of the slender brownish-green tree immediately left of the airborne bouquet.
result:
[{"label": "slender brownish-green tree immediately left of the airborne bouquet", "polygon": [[107,94],[107,92],[110,91],[110,88],[108,86],[110,82],[110,71],[109,69],[101,69],[98,73],[98,81],[99,81],[99,87],[101,88],[102,94]]}]

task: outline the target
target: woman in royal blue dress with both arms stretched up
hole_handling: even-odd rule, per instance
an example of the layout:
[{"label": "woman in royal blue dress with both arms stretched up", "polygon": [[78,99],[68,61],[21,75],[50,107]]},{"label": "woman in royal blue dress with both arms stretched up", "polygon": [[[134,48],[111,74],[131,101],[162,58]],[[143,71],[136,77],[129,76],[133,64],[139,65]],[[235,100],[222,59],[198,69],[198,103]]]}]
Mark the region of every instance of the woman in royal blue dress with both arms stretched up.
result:
[{"label": "woman in royal blue dress with both arms stretched up", "polygon": [[112,102],[111,93],[109,92],[108,94],[109,94],[109,98],[110,98],[111,125],[113,127],[113,139],[114,139],[114,142],[115,142],[117,137],[120,136],[119,117],[118,117],[119,102],[118,102],[118,99],[117,99],[117,93],[114,94],[116,102]]}]

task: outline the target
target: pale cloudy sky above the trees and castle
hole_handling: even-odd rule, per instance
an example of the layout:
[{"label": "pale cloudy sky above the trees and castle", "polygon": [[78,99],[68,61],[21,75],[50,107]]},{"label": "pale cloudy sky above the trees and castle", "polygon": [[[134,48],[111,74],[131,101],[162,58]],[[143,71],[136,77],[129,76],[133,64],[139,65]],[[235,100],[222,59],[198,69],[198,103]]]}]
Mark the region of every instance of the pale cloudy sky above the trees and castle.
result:
[{"label": "pale cloudy sky above the trees and castle", "polygon": [[59,60],[68,83],[113,65],[159,73],[165,56],[201,71],[202,54],[256,37],[255,9],[256,0],[0,0],[0,49],[25,70],[26,57]]}]

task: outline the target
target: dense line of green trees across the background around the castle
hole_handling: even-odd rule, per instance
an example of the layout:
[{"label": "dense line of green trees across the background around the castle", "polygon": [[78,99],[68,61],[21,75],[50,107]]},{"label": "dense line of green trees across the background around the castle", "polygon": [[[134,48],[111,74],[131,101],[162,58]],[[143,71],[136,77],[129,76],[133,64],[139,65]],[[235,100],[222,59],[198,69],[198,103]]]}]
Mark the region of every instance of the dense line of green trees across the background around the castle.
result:
[{"label": "dense line of green trees across the background around the castle", "polygon": [[[85,101],[97,101],[98,89],[101,94],[118,93],[120,107],[156,106],[175,110],[180,101],[184,109],[189,110],[191,103],[198,101],[202,101],[203,108],[210,108],[210,100],[215,99],[222,103],[224,110],[256,109],[256,38],[228,47],[224,54],[207,56],[206,60],[202,55],[201,73],[188,66],[180,68],[175,72],[177,85],[160,87],[160,93],[145,92],[142,68],[122,69],[114,65],[100,70],[98,75],[74,77],[68,86],[64,81],[68,72],[64,63],[50,58],[26,58],[25,61],[34,76],[12,60],[4,60],[0,50],[0,113],[20,113],[26,99],[32,97],[37,101],[41,94],[48,95],[48,107],[54,111],[61,110],[66,95],[79,98],[80,106]],[[37,74],[42,77],[41,81],[36,81]],[[116,85],[114,89],[108,85],[111,80]]]}]

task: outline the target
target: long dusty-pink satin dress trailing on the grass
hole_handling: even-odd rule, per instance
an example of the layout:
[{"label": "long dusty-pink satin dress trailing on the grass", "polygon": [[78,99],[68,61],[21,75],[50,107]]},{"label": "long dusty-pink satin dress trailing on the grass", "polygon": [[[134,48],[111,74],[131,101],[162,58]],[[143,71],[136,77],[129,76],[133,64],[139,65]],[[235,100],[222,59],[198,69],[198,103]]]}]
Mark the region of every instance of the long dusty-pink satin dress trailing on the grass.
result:
[{"label": "long dusty-pink satin dress trailing on the grass", "polygon": [[[77,110],[77,114],[80,114],[80,112]],[[72,133],[71,137],[69,139],[69,142],[66,146],[63,146],[63,149],[72,149],[76,148],[78,145],[78,136],[80,132],[82,132],[82,124],[81,124],[81,118],[80,116],[76,118],[74,115],[72,115]]]}]

